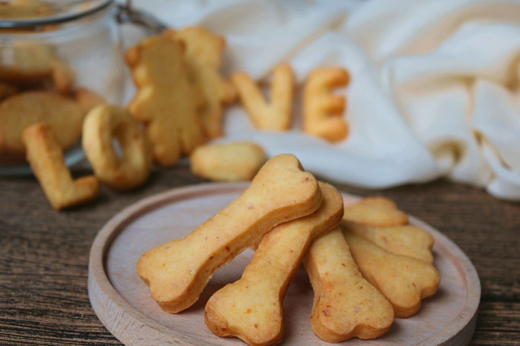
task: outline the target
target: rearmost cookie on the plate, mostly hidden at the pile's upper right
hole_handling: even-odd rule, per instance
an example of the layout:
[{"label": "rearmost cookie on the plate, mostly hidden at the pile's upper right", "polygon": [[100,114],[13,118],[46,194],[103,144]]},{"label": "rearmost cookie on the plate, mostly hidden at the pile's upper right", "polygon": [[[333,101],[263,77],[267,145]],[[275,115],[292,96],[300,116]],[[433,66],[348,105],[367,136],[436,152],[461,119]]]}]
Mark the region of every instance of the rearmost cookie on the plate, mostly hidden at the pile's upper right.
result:
[{"label": "rearmost cookie on the plate, mostly hidden at the pile's upper right", "polygon": [[384,197],[369,197],[358,203],[345,206],[343,219],[369,226],[402,226],[408,217],[397,209],[397,205]]}]

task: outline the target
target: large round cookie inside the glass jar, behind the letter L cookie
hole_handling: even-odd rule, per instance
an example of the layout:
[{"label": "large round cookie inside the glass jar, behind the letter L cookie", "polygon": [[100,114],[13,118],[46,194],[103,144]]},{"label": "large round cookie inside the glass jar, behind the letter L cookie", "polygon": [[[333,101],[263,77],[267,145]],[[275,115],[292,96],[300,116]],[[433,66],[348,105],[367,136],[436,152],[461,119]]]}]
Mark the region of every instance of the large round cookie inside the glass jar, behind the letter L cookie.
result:
[{"label": "large round cookie inside the glass jar, behind the letter L cookie", "polygon": [[81,135],[84,113],[73,100],[49,91],[26,91],[0,104],[0,161],[21,161],[25,146],[21,131],[45,122],[58,138],[60,147],[76,143]]}]

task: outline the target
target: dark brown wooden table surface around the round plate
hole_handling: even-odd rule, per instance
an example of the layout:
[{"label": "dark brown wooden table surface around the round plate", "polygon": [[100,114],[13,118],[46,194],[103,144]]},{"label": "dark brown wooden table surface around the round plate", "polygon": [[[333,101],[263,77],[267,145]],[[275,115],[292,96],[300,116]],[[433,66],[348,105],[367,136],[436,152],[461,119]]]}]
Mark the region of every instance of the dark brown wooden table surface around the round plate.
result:
[{"label": "dark brown wooden table surface around the round plate", "polygon": [[[88,172],[78,172],[78,176]],[[121,209],[157,192],[202,183],[187,165],[155,170],[132,192],[102,189],[101,198],[55,212],[32,177],[0,178],[0,345],[119,344],[89,303],[89,250]],[[473,345],[520,345],[520,204],[447,181],[382,195],[453,240],[474,263],[482,298]]]}]

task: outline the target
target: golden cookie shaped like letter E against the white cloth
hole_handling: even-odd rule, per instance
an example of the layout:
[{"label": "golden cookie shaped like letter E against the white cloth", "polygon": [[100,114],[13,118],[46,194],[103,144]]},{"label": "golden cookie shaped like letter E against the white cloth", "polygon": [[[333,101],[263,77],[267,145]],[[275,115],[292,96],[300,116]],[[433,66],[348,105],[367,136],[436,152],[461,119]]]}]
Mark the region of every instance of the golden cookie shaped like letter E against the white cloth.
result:
[{"label": "golden cookie shaped like letter E against the white cloth", "polygon": [[349,73],[340,67],[322,67],[311,71],[304,88],[304,131],[336,142],[347,136],[343,120],[345,97],[331,89],[346,86]]}]

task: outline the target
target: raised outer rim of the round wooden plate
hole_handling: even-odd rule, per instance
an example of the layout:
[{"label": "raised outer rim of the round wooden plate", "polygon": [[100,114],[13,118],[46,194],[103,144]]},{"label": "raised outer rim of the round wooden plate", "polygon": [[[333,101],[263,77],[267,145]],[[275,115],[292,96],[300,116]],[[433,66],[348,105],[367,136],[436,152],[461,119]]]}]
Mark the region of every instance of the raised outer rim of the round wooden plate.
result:
[{"label": "raised outer rim of the round wooden plate", "polygon": [[[141,215],[164,206],[165,202],[173,203],[175,200],[182,200],[182,197],[186,194],[190,194],[190,196],[193,197],[200,194],[241,193],[248,188],[249,185],[250,182],[200,183],[196,185],[186,185],[180,188],[172,188],[130,204],[130,206],[117,212],[116,215],[105,223],[94,238],[94,242],[90,248],[87,286],[89,300],[96,316],[98,316],[98,319],[112,335],[122,343],[125,343],[125,345],[142,345],[139,343],[141,339],[139,334],[146,336],[146,343],[149,343],[150,338],[152,338],[160,340],[161,343],[165,343],[166,341],[168,345],[179,345],[179,343],[183,345],[215,345],[205,340],[193,340],[193,338],[175,329],[168,328],[153,320],[153,318],[149,318],[143,312],[132,306],[132,304],[126,301],[125,298],[116,291],[110,282],[106,273],[106,256],[112,242],[121,231],[124,230],[125,226],[128,226],[128,224],[141,217]],[[340,193],[344,198],[355,200],[363,198],[343,191],[340,191]],[[451,253],[458,257],[462,267],[465,268],[465,273],[462,276],[466,280],[468,289],[465,305],[459,315],[453,320],[454,322],[451,323],[449,327],[443,329],[441,333],[437,333],[424,340],[422,345],[467,344],[474,334],[480,303],[481,287],[476,268],[471,263],[471,260],[469,260],[469,257],[467,257],[449,237],[444,235],[444,233],[441,233],[417,217],[413,217],[412,215],[408,215],[408,217],[413,224],[435,233],[437,237],[442,239],[444,246],[447,246]],[[468,316],[470,317],[469,320]],[[119,327],[111,327],[114,325],[114,322],[119,323],[124,321],[125,326],[122,328],[124,332],[119,332],[119,329],[121,329]],[[137,327],[137,329],[135,334],[133,334],[130,330],[133,330],[135,327]],[[462,331],[467,331],[467,333],[462,333]],[[169,340],[164,340],[164,336],[167,336]]]}]

